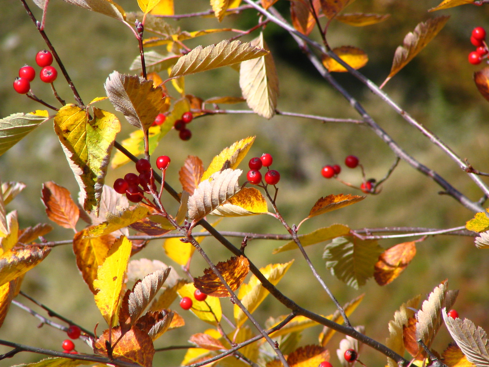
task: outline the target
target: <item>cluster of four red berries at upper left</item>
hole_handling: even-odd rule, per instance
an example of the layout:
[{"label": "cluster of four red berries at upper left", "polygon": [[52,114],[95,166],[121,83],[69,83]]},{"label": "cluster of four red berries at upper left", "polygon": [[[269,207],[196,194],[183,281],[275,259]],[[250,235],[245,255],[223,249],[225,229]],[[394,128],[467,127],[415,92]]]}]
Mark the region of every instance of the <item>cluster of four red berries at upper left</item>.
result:
[{"label": "cluster of four red berries at upper left", "polygon": [[[36,55],[36,64],[39,65],[41,71],[39,73],[39,78],[44,83],[52,83],[56,80],[58,76],[58,71],[51,66],[53,63],[53,55],[51,52],[42,50]],[[23,66],[19,69],[19,76],[14,80],[14,90],[20,94],[26,94],[30,91],[30,82],[36,77],[36,70],[28,65]]]}]

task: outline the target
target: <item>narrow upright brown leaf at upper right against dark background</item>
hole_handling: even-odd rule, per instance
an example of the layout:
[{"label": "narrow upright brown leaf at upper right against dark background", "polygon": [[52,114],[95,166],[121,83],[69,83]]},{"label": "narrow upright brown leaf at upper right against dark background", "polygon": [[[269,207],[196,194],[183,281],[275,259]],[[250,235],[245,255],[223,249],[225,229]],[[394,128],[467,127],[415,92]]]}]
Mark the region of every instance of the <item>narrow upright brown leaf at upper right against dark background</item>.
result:
[{"label": "narrow upright brown leaf at upper right against dark background", "polygon": [[404,37],[402,46],[398,46],[394,53],[391,72],[382,83],[385,85],[400,69],[404,68],[420,51],[435,38],[442,30],[449,16],[430,18],[426,22],[419,23],[413,32]]}]

